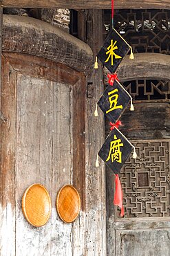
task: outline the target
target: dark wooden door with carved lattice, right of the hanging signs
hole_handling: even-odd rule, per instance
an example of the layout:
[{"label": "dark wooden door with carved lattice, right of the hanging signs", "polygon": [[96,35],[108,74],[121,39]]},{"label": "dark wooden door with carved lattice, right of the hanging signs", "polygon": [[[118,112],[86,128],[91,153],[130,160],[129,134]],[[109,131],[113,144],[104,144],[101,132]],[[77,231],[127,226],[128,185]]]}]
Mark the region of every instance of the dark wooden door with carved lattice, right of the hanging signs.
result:
[{"label": "dark wooden door with carved lattice, right of the hanging signs", "polygon": [[[165,70],[162,68],[162,75]],[[136,78],[133,66],[134,79],[126,78],[123,83],[134,98],[135,111],[125,111],[121,131],[136,146],[138,154],[136,159],[127,159],[120,173],[123,219],[113,205],[114,174],[107,170],[107,255],[168,256],[170,84],[168,79],[154,78],[151,68],[147,69],[149,78],[141,78],[140,72]]]}]

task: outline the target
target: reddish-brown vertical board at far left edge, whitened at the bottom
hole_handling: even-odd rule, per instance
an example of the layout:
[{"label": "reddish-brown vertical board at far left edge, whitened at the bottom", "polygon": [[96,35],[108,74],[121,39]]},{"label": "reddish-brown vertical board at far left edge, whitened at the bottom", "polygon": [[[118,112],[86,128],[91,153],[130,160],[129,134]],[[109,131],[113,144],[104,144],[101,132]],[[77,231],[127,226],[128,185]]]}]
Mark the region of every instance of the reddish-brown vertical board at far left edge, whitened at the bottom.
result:
[{"label": "reddish-brown vertical board at far left edge, whitened at the bottom", "polygon": [[16,232],[16,77],[3,56],[2,73],[5,75],[1,84],[1,114],[4,122],[1,120],[0,254],[8,256],[13,255],[15,250]]}]

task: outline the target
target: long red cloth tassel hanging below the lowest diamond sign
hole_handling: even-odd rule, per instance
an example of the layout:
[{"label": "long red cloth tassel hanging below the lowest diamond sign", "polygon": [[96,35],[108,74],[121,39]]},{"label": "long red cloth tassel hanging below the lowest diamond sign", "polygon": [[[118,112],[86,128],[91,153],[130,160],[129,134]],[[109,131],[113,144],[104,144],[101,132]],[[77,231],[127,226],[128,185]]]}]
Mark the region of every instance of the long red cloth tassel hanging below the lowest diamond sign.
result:
[{"label": "long red cloth tassel hanging below the lowest diamond sign", "polygon": [[114,205],[118,205],[121,208],[120,216],[123,217],[124,216],[123,190],[121,187],[121,183],[120,183],[118,174],[115,174]]}]

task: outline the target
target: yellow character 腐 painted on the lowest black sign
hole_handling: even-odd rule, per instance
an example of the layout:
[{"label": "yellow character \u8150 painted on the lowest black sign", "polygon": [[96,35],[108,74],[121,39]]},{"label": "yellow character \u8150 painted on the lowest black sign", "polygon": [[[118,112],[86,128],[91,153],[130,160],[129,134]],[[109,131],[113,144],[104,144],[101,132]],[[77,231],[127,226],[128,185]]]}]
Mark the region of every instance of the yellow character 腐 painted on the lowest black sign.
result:
[{"label": "yellow character \u8150 painted on the lowest black sign", "polygon": [[120,138],[117,138],[116,135],[114,135],[114,140],[110,142],[109,155],[106,162],[111,158],[112,163],[114,161],[122,163],[122,152],[120,151],[120,147],[123,147],[123,143]]}]

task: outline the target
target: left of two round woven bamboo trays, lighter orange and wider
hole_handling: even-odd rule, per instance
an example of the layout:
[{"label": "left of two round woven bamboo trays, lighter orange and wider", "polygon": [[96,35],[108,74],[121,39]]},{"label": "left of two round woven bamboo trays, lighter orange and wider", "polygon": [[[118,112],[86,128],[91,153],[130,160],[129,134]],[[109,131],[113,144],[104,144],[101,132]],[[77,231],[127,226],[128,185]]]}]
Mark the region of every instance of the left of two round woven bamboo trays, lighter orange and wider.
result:
[{"label": "left of two round woven bamboo trays, lighter orange and wider", "polygon": [[30,185],[23,194],[22,210],[32,226],[41,227],[47,223],[51,214],[51,199],[43,185]]}]

